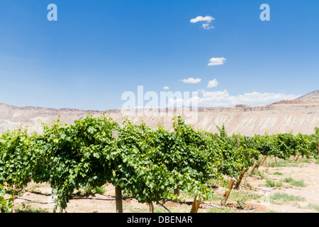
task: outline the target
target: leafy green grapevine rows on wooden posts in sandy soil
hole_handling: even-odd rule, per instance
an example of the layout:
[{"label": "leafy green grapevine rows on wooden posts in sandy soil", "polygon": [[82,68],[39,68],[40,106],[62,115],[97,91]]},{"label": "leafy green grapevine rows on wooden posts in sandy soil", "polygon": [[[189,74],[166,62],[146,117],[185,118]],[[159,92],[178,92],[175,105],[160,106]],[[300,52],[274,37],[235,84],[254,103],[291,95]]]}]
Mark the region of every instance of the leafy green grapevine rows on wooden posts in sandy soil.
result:
[{"label": "leafy green grapevine rows on wooden posts in sandy soil", "polygon": [[[238,187],[245,171],[253,174],[266,157],[293,160],[318,159],[318,137],[278,133],[276,135],[228,136],[197,131],[180,116],[173,131],[154,129],[145,123],[123,124],[112,118],[86,116],[74,124],[59,119],[43,133],[17,128],[0,137],[0,209],[14,212],[15,199],[32,180],[48,183],[54,198],[53,212],[67,209],[74,192],[104,184],[116,187],[116,210],[122,211],[123,194],[139,203],[179,201],[179,190],[198,201],[211,198],[208,181],[218,179],[226,190]],[[318,136],[318,135],[317,135]]]}]

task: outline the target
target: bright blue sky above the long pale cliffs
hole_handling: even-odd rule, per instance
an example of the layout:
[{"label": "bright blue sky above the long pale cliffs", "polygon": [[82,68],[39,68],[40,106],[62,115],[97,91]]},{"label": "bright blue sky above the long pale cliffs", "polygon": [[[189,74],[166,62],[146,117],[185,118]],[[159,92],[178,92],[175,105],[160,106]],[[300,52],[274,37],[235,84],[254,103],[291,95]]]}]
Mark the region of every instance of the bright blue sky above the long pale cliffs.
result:
[{"label": "bright blue sky above the long pale cliffs", "polygon": [[1,0],[0,103],[119,109],[138,86],[198,91],[200,106],[292,99],[318,89],[318,11],[318,0]]}]

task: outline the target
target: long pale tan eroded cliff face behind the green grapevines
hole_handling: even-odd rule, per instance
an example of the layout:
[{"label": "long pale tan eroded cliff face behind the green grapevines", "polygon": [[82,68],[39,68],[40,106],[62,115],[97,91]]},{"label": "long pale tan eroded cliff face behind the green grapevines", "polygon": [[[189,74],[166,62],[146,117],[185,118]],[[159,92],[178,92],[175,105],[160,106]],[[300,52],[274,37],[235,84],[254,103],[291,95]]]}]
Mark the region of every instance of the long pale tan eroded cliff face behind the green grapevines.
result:
[{"label": "long pale tan eroded cliff face behind the green grapevines", "polygon": [[[57,120],[58,116],[64,123],[84,118],[86,115],[101,116],[109,114],[111,118],[123,122],[126,114],[121,110],[110,111],[84,111],[78,109],[47,109],[38,107],[15,107],[0,104],[0,131],[6,131],[19,126],[28,127],[28,131],[42,131],[41,123],[50,124]],[[156,128],[159,123],[167,130],[172,130],[174,114],[169,112],[164,116],[158,113],[130,114],[128,116],[133,123],[144,121],[148,126]],[[189,115],[189,113],[188,113]],[[182,115],[183,116],[183,115]],[[228,135],[240,133],[252,136],[254,134],[289,133],[293,134],[314,133],[314,128],[319,127],[319,92],[310,92],[301,98],[279,101],[267,106],[237,105],[233,108],[201,108],[191,116],[183,116],[186,123],[195,128],[217,133],[216,126],[225,125]]]}]

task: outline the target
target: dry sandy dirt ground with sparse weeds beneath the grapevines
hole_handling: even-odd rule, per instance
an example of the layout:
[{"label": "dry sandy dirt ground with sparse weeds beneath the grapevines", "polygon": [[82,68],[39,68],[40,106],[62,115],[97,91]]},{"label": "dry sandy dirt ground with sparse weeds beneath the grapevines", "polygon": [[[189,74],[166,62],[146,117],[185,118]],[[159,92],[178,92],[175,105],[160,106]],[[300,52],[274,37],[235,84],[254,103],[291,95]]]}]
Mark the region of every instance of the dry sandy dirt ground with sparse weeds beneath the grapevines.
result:
[{"label": "dry sandy dirt ground with sparse weeds beneath the grapevines", "polygon": [[[279,162],[277,160],[277,162]],[[270,160],[269,160],[270,163]],[[220,199],[225,193],[224,187],[212,187],[214,197],[203,201],[198,212],[284,212],[284,213],[318,213],[319,212],[319,165],[316,160],[300,159],[296,164],[284,162],[284,166],[262,166],[252,177],[245,174],[239,189],[230,193],[228,204],[220,206]],[[267,165],[267,164],[265,164]],[[248,172],[248,171],[247,171]],[[304,185],[293,185],[285,179],[295,182],[303,181]],[[267,180],[281,184],[270,187]],[[86,199],[72,199],[67,206],[67,213],[115,213],[116,202],[113,185],[104,186],[103,194],[85,196]],[[293,199],[274,197],[278,193],[293,196]],[[50,184],[30,182],[26,192],[16,199],[16,211],[52,212],[54,204],[50,196]],[[167,201],[163,204],[172,213],[189,213],[194,198],[191,194],[183,194],[181,203]],[[27,200],[26,200],[27,199]],[[101,199],[101,200],[100,200]],[[109,200],[106,200],[109,199]],[[237,209],[237,201],[244,199],[245,209]],[[29,201],[28,201],[29,200]],[[38,203],[35,203],[38,202]],[[39,204],[44,203],[44,204]],[[160,204],[154,204],[155,212],[168,213]],[[147,213],[149,204],[140,204],[135,199],[123,200],[124,213]]]}]

